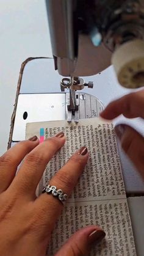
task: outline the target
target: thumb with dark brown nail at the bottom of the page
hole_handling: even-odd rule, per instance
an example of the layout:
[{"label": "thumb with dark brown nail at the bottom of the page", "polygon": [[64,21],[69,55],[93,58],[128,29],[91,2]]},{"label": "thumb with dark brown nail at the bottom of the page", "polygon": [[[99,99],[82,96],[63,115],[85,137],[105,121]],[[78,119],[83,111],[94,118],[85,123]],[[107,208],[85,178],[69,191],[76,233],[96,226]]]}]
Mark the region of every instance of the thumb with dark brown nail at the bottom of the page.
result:
[{"label": "thumb with dark brown nail at the bottom of the page", "polygon": [[90,252],[90,247],[103,240],[106,233],[94,225],[85,227],[74,233],[73,236],[60,248],[55,256],[84,256]]}]

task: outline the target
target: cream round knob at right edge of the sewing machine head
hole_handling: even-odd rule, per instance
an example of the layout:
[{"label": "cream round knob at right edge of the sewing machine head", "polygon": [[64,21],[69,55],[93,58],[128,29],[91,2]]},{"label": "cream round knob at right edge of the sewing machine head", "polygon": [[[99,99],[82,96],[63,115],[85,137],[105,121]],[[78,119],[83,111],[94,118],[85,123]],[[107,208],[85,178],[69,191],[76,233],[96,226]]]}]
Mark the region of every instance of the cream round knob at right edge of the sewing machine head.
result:
[{"label": "cream round knob at right edge of the sewing machine head", "polygon": [[112,64],[121,86],[144,86],[144,41],[133,40],[121,45],[113,53]]}]

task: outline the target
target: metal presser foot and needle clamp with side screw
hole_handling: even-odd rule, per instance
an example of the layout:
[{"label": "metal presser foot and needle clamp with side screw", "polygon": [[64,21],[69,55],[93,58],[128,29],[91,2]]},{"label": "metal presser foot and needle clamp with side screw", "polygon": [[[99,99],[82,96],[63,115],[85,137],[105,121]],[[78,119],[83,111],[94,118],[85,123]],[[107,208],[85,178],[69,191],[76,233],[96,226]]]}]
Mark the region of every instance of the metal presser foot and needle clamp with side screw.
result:
[{"label": "metal presser foot and needle clamp with side screw", "polygon": [[79,122],[79,115],[77,115],[77,111],[79,110],[79,94],[76,94],[76,90],[82,90],[85,86],[92,89],[93,82],[89,81],[86,83],[84,79],[79,77],[62,78],[62,81],[60,82],[60,89],[62,92],[64,92],[65,89],[70,90],[70,96],[67,99],[68,122],[71,122],[73,117],[75,122]]}]

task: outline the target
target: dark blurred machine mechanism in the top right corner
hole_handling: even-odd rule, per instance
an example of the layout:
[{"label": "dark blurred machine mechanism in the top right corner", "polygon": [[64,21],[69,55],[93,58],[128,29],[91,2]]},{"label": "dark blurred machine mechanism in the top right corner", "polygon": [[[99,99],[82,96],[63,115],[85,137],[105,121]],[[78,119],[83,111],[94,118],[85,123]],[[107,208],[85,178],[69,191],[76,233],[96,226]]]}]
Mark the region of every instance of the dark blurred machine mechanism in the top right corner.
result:
[{"label": "dark blurred machine mechanism in the top right corner", "polygon": [[143,4],[143,0],[95,1],[95,24],[110,51],[135,39],[144,40]]}]

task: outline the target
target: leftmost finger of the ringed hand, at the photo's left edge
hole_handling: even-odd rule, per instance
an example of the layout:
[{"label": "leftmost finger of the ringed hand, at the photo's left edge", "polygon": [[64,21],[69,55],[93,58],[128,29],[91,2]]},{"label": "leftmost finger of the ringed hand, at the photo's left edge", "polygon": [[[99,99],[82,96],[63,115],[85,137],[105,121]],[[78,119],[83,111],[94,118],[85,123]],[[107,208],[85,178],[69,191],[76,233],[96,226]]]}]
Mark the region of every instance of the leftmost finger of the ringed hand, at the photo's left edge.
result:
[{"label": "leftmost finger of the ringed hand, at the photo's left edge", "polygon": [[5,191],[15,177],[18,165],[27,153],[39,144],[37,136],[21,141],[0,158],[0,192]]}]

